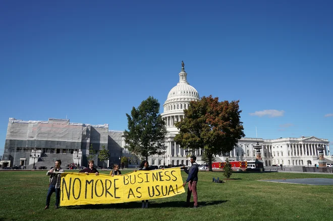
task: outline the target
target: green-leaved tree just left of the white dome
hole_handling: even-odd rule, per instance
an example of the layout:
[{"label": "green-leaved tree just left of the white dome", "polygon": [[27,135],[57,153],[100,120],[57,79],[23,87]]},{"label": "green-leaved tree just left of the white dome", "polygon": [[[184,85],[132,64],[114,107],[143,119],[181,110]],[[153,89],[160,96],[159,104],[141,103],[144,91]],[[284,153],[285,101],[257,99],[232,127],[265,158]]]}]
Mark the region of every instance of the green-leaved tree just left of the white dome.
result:
[{"label": "green-leaved tree just left of the white dome", "polygon": [[145,160],[151,155],[163,155],[167,149],[164,143],[167,128],[159,114],[159,106],[158,100],[149,96],[138,108],[133,107],[131,115],[126,114],[129,130],[125,130],[124,136],[128,150]]}]

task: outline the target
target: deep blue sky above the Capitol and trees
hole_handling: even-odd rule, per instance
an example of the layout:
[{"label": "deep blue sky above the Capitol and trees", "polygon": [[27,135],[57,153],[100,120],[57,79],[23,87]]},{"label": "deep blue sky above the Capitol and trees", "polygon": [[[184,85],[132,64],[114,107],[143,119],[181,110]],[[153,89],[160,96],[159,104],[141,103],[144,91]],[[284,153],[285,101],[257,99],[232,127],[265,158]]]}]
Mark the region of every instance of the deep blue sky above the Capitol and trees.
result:
[{"label": "deep blue sky above the Capitol and trees", "polygon": [[333,1],[2,1],[0,155],[9,117],[127,129],[133,106],[148,96],[163,105],[182,60],[200,96],[240,100],[247,137],[257,127],[265,139],[333,141],[332,10]]}]

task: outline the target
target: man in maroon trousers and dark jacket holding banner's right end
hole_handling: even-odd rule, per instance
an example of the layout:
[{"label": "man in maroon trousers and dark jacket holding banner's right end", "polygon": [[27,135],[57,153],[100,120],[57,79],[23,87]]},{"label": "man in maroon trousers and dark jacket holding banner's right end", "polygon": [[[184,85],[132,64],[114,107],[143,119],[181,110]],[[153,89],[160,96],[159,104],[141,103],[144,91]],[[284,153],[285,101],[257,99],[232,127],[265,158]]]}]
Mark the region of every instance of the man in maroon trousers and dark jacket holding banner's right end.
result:
[{"label": "man in maroon trousers and dark jacket holding banner's right end", "polygon": [[197,158],[195,156],[191,157],[191,164],[192,166],[190,167],[189,170],[185,169],[185,166],[183,166],[185,173],[187,173],[189,176],[187,177],[185,183],[183,186],[185,187],[186,183],[188,182],[188,188],[187,188],[187,200],[186,200],[186,205],[190,206],[190,200],[191,200],[191,194],[193,194],[193,201],[194,201],[194,206],[193,208],[198,207],[198,196],[197,196],[197,182],[198,182],[198,164],[195,163]]}]

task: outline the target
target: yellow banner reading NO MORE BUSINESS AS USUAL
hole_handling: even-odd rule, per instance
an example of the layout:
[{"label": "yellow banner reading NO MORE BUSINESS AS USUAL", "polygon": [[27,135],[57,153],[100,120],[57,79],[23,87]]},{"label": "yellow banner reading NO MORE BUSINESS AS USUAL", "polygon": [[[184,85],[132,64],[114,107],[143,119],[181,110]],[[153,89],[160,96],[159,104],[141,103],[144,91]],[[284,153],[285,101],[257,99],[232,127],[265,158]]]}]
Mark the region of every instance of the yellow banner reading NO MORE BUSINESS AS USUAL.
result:
[{"label": "yellow banner reading NO MORE BUSINESS AS USUAL", "polygon": [[156,199],[184,193],[180,168],[138,170],[124,175],[62,173],[61,206]]}]

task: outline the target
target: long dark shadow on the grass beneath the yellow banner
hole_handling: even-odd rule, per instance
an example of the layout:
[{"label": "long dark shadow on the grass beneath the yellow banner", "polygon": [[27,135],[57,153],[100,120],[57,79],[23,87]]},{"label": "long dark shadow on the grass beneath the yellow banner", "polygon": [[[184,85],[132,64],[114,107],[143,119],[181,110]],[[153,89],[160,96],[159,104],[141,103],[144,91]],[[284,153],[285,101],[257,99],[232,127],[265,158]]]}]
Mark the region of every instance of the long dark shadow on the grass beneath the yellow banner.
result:
[{"label": "long dark shadow on the grass beneath the yellow banner", "polygon": [[[215,200],[215,201],[199,201],[199,207],[217,205],[228,200]],[[165,207],[184,207],[185,201],[172,201],[172,202],[160,202],[155,203],[154,200],[149,200],[149,208],[165,208]],[[114,203],[114,204],[98,204],[98,205],[81,205],[81,206],[64,206],[61,208],[65,209],[133,209],[133,208],[141,208],[141,201],[137,202],[128,202],[128,203]],[[193,202],[191,203],[193,205]]]}]

